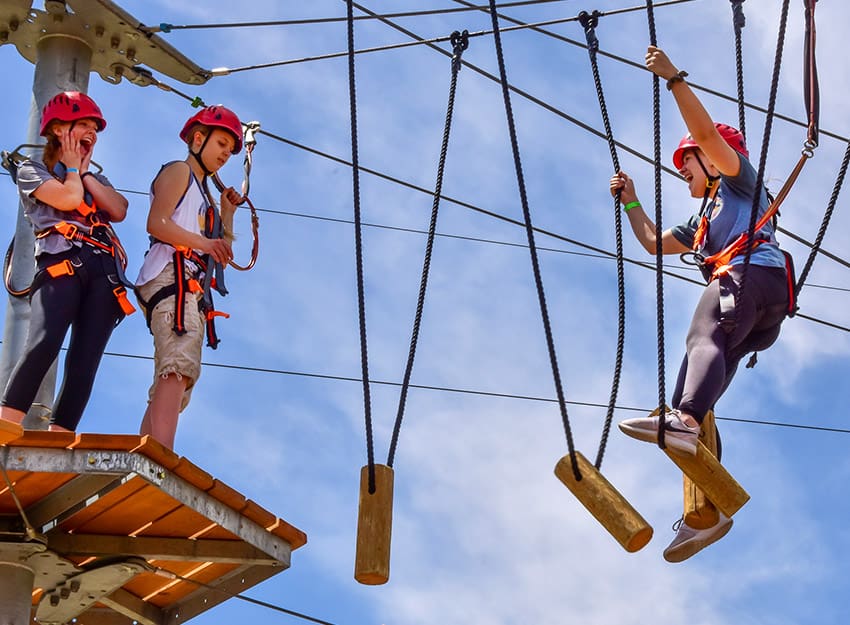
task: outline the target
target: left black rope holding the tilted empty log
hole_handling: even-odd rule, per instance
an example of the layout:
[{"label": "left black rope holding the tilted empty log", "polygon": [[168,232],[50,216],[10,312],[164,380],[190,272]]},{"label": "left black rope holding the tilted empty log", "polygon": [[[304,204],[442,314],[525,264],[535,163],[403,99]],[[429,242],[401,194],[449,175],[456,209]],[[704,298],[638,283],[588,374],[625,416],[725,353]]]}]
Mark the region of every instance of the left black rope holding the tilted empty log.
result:
[{"label": "left black rope holding the tilted empty log", "polygon": [[552,365],[552,376],[555,380],[555,391],[558,395],[558,407],[561,411],[561,419],[564,423],[564,432],[567,436],[567,447],[570,452],[573,475],[576,480],[579,481],[581,480],[581,472],[579,471],[578,460],[576,459],[573,434],[570,429],[570,419],[567,414],[567,404],[564,399],[564,389],[561,384],[561,374],[558,371],[558,358],[555,354],[555,341],[552,338],[552,325],[549,321],[549,310],[546,306],[546,293],[543,290],[543,278],[540,275],[540,262],[537,258],[537,247],[534,242],[534,228],[531,224],[531,211],[528,207],[528,196],[525,192],[525,179],[522,174],[522,161],[519,156],[519,144],[517,142],[513,109],[511,108],[511,94],[508,89],[508,77],[505,70],[505,58],[502,52],[502,37],[499,33],[499,18],[496,14],[495,0],[490,0],[490,17],[493,22],[493,40],[496,45],[496,58],[499,62],[502,97],[505,101],[505,115],[508,118],[508,131],[511,137],[511,150],[513,151],[514,166],[516,168],[517,185],[519,186],[519,195],[520,200],[522,201],[522,213],[525,218],[525,233],[528,237],[528,250],[531,253],[531,267],[534,271],[534,282],[537,286],[537,298],[540,302],[540,314],[543,318],[543,329],[546,332],[546,346],[549,349],[549,361]]}]

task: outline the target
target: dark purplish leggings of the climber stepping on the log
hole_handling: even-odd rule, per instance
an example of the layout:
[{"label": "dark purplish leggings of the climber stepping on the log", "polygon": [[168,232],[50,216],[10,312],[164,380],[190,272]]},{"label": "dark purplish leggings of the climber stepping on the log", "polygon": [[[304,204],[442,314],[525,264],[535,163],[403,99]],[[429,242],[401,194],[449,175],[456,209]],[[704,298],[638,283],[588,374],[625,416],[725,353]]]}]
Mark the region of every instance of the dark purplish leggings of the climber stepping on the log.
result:
[{"label": "dark purplish leggings of the climber stepping on the log", "polygon": [[[741,272],[731,272],[731,290],[739,298]],[[674,408],[697,421],[723,395],[747,353],[767,349],[779,336],[788,307],[785,270],[750,265],[743,300],[731,332],[720,325],[720,280],[703,291],[688,330],[687,351],[671,398]]]}]

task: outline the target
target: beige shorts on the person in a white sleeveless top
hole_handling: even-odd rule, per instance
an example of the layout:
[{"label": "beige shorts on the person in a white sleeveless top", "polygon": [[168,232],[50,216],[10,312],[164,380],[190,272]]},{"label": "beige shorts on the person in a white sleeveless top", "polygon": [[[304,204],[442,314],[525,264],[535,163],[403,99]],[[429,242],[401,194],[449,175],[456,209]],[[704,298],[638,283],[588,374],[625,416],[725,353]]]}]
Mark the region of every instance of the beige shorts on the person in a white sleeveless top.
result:
[{"label": "beige shorts on the person in a white sleeveless top", "polygon": [[[169,264],[150,282],[139,287],[139,294],[149,300],[161,288],[174,284],[174,267]],[[180,402],[182,412],[189,405],[192,389],[201,375],[201,348],[204,342],[205,321],[198,310],[201,293],[186,293],[183,323],[186,334],[178,336],[174,332],[174,296],[166,297],[153,310],[151,315],[151,333],[154,346],[154,377],[148,391],[148,401],[153,398],[159,380],[169,375],[186,379],[186,391]],[[141,302],[140,302],[141,305]]]}]

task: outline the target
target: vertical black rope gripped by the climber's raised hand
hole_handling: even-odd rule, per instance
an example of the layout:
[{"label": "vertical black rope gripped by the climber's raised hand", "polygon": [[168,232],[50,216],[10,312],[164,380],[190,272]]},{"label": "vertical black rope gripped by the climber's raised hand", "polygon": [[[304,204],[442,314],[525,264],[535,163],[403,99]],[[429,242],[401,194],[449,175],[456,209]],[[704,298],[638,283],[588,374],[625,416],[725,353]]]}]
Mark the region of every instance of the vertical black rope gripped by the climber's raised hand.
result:
[{"label": "vertical black rope gripped by the climber's raised hand", "polygon": [[[649,43],[658,45],[655,33],[655,10],[652,0],[646,0],[646,18]],[[655,156],[655,309],[658,344],[658,446],[664,449],[664,414],[667,410],[667,390],[664,378],[664,251],[661,229],[661,85],[657,74],[652,74],[652,133]]]}]

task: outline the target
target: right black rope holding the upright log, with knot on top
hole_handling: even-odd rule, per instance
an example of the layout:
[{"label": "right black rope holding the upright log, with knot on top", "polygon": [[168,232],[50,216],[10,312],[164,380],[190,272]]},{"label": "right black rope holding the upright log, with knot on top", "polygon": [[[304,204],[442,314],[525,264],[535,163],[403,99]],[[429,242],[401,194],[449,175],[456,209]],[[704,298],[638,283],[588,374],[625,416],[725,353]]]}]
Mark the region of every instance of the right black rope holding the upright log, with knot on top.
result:
[{"label": "right black rope holding the upright log, with knot on top", "polygon": [[413,320],[413,331],[410,336],[410,351],[407,355],[407,365],[404,369],[404,379],[401,384],[401,393],[398,401],[398,412],[396,413],[395,427],[393,428],[390,451],[387,457],[387,466],[393,466],[395,450],[398,445],[398,436],[401,431],[401,421],[404,418],[404,407],[407,401],[407,391],[410,388],[410,376],[413,373],[413,360],[416,358],[416,344],[419,341],[419,327],[422,323],[422,309],[425,306],[425,291],[428,288],[428,273],[431,269],[431,253],[434,249],[434,237],[437,230],[437,216],[440,209],[440,195],[443,190],[443,172],[446,167],[446,152],[449,148],[449,135],[452,128],[452,116],[454,114],[455,92],[457,90],[457,74],[460,71],[461,56],[469,46],[469,32],[454,31],[451,35],[452,43],[452,77],[449,85],[449,103],[446,107],[446,125],[443,129],[443,143],[440,147],[440,161],[437,165],[437,182],[434,187],[434,204],[431,208],[431,222],[428,226],[428,241],[425,245],[425,260],[422,263],[422,279],[419,283],[419,299],[416,302],[416,315]]}]

